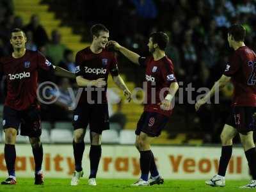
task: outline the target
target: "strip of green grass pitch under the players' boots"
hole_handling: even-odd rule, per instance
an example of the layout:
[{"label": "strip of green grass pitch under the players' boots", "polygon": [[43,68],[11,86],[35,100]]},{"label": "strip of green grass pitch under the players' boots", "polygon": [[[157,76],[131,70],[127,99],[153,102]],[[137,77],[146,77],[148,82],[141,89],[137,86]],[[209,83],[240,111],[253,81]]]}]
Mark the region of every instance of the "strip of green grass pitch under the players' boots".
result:
[{"label": "strip of green grass pitch under the players' boots", "polygon": [[[4,180],[2,178],[2,180]],[[86,179],[81,179],[79,186],[70,186],[70,179],[45,179],[44,186],[35,186],[33,184],[33,178],[31,179],[19,179],[17,185],[13,186],[0,186],[0,192],[66,192],[66,191],[90,191],[90,192],[126,192],[126,191],[138,191],[138,192],[150,192],[150,191],[174,191],[174,192],[225,192],[225,191],[248,191],[248,189],[239,189],[239,186],[243,186],[248,183],[248,180],[226,180],[225,188],[210,187],[204,184],[204,180],[165,180],[163,185],[157,186],[143,186],[143,187],[131,187],[130,184],[134,182],[131,179],[97,179],[97,186],[88,186]],[[250,191],[250,189],[249,189]]]}]

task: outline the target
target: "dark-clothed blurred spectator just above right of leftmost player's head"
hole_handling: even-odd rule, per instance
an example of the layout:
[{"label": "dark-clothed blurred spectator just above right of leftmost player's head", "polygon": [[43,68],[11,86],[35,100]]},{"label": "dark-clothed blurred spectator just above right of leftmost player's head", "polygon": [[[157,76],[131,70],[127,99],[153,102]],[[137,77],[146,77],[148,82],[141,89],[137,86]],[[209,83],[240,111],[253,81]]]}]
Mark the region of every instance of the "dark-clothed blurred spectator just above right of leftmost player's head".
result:
[{"label": "dark-clothed blurred spectator just above right of leftmost player's head", "polygon": [[38,15],[32,15],[29,24],[24,28],[25,33],[32,31],[33,40],[37,47],[42,47],[49,41],[44,27],[40,24]]}]

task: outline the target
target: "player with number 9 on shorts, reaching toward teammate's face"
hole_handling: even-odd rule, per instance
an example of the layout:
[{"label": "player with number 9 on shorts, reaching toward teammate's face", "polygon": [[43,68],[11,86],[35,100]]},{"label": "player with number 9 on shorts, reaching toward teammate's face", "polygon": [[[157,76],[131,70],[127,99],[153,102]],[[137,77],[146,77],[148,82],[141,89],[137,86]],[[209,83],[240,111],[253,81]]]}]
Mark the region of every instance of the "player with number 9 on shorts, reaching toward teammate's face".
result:
[{"label": "player with number 9 on shorts, reaching toward teammate's face", "polygon": [[[150,143],[154,137],[161,134],[161,130],[168,122],[172,114],[171,102],[179,88],[173,73],[173,63],[164,53],[167,44],[168,36],[165,33],[152,33],[148,40],[148,49],[152,56],[144,58],[122,47],[117,42],[109,42],[109,46],[114,46],[133,63],[146,68],[147,104],[145,104],[144,112],[135,131],[135,145],[140,152],[141,177],[132,186],[147,186],[164,182],[157,170],[154,154],[150,150]],[[152,89],[156,89],[156,95],[152,94]],[[165,92],[163,92],[164,89]],[[149,172],[151,174],[150,181],[148,181]]]}]

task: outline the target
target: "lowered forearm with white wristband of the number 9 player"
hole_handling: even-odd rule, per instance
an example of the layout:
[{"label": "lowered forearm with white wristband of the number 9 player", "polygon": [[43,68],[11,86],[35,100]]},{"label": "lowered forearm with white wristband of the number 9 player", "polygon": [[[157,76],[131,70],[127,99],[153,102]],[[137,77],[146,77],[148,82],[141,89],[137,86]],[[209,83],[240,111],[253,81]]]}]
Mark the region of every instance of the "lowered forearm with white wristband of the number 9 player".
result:
[{"label": "lowered forearm with white wristband of the number 9 player", "polygon": [[173,82],[170,84],[169,93],[166,95],[164,100],[161,101],[160,108],[163,110],[170,110],[172,108],[172,99],[175,97],[175,93],[179,89],[179,84]]}]

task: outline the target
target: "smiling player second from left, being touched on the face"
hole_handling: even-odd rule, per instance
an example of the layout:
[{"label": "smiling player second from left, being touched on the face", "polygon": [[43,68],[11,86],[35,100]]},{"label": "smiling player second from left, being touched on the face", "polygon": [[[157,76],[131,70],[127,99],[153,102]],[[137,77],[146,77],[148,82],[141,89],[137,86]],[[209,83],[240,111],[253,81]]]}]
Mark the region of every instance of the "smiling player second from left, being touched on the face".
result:
[{"label": "smiling player second from left, being touched on the face", "polygon": [[113,52],[105,49],[109,31],[102,24],[91,28],[92,45],[76,54],[76,81],[84,88],[77,108],[74,111],[74,158],[76,170],[71,185],[76,186],[83,176],[82,159],[84,152],[84,135],[90,125],[90,177],[88,184],[96,186],[96,175],[101,156],[101,134],[109,129],[108,101],[106,98],[108,74],[110,72],[115,84],[121,88],[128,100],[131,93],[118,74],[117,61]]}]

